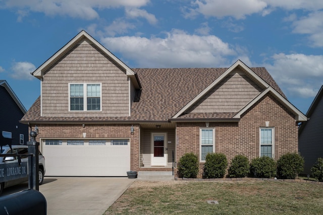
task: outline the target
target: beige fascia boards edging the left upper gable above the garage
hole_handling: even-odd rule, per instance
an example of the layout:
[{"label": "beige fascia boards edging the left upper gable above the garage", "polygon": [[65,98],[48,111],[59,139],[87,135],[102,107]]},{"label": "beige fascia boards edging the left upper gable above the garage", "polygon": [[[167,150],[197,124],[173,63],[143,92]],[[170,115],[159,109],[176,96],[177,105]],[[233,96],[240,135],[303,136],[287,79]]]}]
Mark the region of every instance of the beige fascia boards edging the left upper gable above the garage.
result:
[{"label": "beige fascia boards edging the left upper gable above the garage", "polygon": [[[116,63],[118,63],[122,68],[126,70],[127,76],[135,76],[135,72],[129,68],[124,62],[122,62],[118,57],[116,57],[114,54],[112,54],[109,50],[107,50],[104,46],[102,46],[99,42],[97,42],[93,37],[91,37],[88,33],[86,33],[84,30],[82,30],[78,35],[76,35],[70,42],[68,42],[63,48],[61,48],[58,52],[56,52],[54,55],[52,55],[48,60],[46,60],[41,66],[39,66],[32,75],[40,78],[43,76],[43,69],[53,60],[60,57],[67,49],[69,49],[71,46],[74,46],[75,43],[77,43],[80,39],[86,38],[90,40],[95,46],[97,46],[101,51],[103,51],[106,55],[111,57]],[[140,83],[138,83],[138,86],[140,86]]]}]

